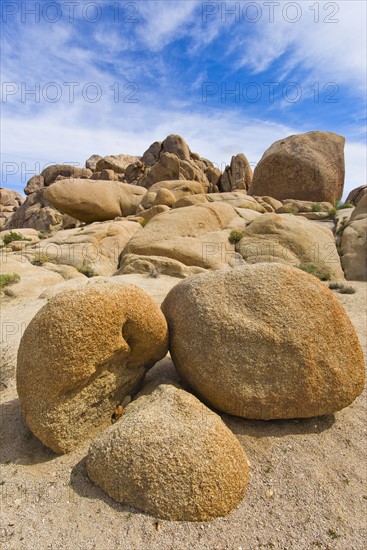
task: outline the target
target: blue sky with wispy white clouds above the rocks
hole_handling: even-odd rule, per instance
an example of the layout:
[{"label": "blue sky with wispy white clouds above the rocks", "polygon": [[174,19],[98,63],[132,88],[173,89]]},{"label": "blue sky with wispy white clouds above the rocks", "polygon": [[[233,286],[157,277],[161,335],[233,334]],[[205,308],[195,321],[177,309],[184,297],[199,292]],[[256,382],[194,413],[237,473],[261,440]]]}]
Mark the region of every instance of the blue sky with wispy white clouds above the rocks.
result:
[{"label": "blue sky with wispy white clouds above the rocks", "polygon": [[366,183],[364,0],[1,2],[1,185],[180,134],[224,170],[292,134],[345,136]]}]

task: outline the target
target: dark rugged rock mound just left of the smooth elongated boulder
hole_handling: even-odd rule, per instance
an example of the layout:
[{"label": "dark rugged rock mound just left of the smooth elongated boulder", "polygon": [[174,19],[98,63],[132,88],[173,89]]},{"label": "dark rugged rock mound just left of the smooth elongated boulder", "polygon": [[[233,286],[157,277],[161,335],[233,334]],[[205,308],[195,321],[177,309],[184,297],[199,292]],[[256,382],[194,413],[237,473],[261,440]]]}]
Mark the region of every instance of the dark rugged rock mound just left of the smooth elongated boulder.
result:
[{"label": "dark rugged rock mound just left of the smooth elongated boulder", "polygon": [[28,195],[7,221],[4,229],[30,228],[52,233],[61,228],[62,214],[44,197],[45,189]]}]

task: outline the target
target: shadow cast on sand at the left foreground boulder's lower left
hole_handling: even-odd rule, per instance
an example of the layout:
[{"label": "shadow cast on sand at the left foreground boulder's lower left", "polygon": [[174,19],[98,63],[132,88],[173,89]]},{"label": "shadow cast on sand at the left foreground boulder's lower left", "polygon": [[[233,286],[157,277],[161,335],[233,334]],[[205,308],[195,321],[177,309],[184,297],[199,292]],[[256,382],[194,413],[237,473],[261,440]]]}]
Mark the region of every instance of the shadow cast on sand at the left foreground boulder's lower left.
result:
[{"label": "shadow cast on sand at the left foreground boulder's lower left", "polygon": [[0,464],[40,464],[57,458],[24,422],[19,399],[0,403]]}]

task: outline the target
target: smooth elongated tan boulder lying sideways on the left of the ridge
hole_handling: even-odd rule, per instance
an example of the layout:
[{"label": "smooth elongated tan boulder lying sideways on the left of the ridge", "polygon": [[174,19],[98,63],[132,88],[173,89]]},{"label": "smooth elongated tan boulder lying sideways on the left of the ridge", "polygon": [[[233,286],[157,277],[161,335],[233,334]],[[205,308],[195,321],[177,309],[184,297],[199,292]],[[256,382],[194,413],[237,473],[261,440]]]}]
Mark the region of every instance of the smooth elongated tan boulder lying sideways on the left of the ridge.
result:
[{"label": "smooth elongated tan boulder lying sideways on the left of the ridge", "polygon": [[134,214],[145,193],[117,181],[65,179],[47,188],[44,197],[64,214],[91,223]]}]

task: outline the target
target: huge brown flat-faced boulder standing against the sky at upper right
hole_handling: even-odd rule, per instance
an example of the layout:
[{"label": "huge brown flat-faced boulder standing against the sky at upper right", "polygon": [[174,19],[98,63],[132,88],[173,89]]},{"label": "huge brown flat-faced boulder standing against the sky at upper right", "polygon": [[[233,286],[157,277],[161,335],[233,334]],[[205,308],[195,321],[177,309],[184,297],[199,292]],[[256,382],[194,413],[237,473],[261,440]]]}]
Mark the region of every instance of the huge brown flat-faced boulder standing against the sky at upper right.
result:
[{"label": "huge brown flat-faced boulder standing against the sky at upper right", "polygon": [[276,141],[255,168],[251,195],[335,204],[343,194],[345,139],[308,132]]}]

